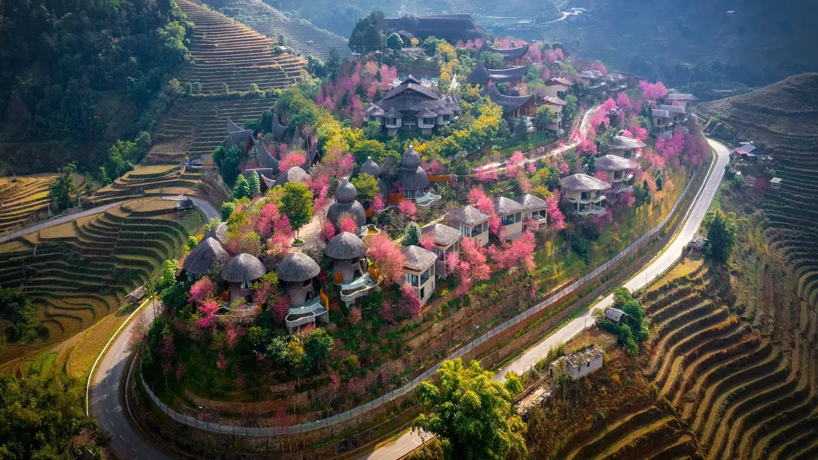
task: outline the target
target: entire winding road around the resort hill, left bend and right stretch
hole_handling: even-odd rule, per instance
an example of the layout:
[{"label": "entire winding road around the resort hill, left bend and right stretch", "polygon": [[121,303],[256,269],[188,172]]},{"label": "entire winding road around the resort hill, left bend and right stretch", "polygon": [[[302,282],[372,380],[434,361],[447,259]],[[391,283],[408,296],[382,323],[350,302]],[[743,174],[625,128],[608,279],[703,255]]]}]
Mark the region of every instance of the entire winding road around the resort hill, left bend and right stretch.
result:
[{"label": "entire winding road around the resort hill, left bend and right stretch", "polygon": [[[663,253],[658,255],[658,257],[647,264],[640,273],[637,273],[630,281],[624,284],[624,286],[629,289],[638,289],[640,286],[644,286],[646,282],[658,276],[659,273],[662,273],[669,267],[673,261],[681,255],[685,244],[690,241],[690,237],[692,237],[693,233],[699,228],[704,214],[707,213],[713,197],[716,195],[719,184],[721,183],[721,176],[724,174],[724,166],[729,160],[729,151],[725,146],[712,140],[708,142],[710,142],[710,145],[716,151],[717,158],[703,187],[699,189],[694,205],[685,216],[685,223]],[[198,207],[200,204],[196,203],[196,199],[194,200]],[[207,210],[206,206],[203,206],[200,210],[205,212],[208,219],[210,217],[218,217],[218,212],[216,212],[212,206],[209,207],[210,210]],[[99,210],[97,210],[97,212],[99,212]],[[76,214],[72,214],[71,219],[75,217]],[[51,225],[53,224],[54,223],[51,223]],[[30,231],[29,229],[29,232]],[[573,336],[576,336],[582,331],[582,329],[590,326],[588,320],[591,310],[605,306],[605,304],[610,304],[611,300],[612,296],[609,295],[605,297],[605,299],[591,305],[582,316],[561,327],[558,331],[551,334],[551,336],[527,350],[501,372],[498,372],[496,378],[502,379],[505,376],[505,372],[509,370],[514,370],[515,372],[527,371],[538,359],[542,359],[552,346],[570,340]],[[147,315],[146,320],[148,322],[153,319],[153,311],[151,308],[143,309],[142,312],[138,314]],[[120,460],[130,458],[170,460],[173,457],[169,456],[168,453],[164,453],[154,444],[151,444],[151,442],[144,440],[142,435],[140,435],[131,424],[132,422],[129,420],[128,414],[120,402],[119,382],[122,380],[124,372],[126,372],[125,363],[131,353],[128,341],[133,331],[134,323],[133,321],[128,323],[119,336],[115,338],[110,345],[110,350],[108,350],[101,359],[97,371],[92,376],[90,389],[91,413],[102,428],[110,431],[112,435],[110,449],[113,450]],[[428,440],[429,437],[429,435],[424,436],[426,440]],[[363,455],[361,459],[398,460],[398,458],[402,458],[407,453],[410,453],[423,444],[423,442],[424,440],[419,433],[407,431],[398,437],[397,440],[381,445],[373,452]]]}]

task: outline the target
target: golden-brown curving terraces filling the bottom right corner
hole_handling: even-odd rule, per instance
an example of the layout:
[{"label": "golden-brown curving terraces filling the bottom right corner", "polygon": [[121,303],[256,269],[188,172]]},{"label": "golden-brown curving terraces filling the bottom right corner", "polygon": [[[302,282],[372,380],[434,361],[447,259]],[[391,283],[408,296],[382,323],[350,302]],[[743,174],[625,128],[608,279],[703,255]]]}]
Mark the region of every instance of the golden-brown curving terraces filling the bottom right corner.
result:
[{"label": "golden-brown curving terraces filling the bottom right corner", "polygon": [[569,458],[816,458],[816,314],[793,340],[737,318],[704,265],[645,295],[651,322],[643,373],[670,408],[609,422]]}]

